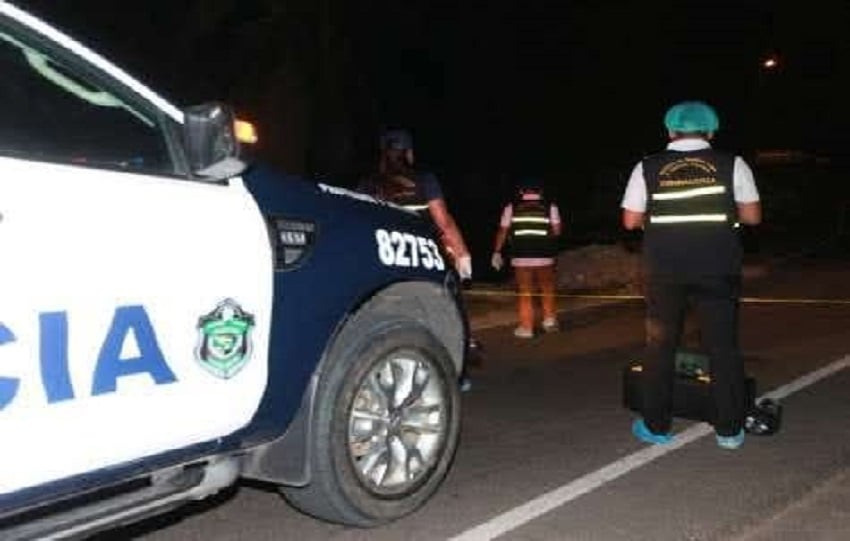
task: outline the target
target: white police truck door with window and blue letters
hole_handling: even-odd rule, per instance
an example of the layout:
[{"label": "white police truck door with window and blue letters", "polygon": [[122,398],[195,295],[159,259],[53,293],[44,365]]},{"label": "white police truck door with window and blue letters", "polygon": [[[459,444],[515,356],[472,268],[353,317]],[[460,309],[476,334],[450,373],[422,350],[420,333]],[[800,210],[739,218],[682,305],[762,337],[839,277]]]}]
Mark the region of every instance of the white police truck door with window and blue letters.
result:
[{"label": "white police truck door with window and blue letters", "polygon": [[0,495],[247,424],[273,268],[241,180],[187,178],[179,118],[15,28],[0,24]]}]

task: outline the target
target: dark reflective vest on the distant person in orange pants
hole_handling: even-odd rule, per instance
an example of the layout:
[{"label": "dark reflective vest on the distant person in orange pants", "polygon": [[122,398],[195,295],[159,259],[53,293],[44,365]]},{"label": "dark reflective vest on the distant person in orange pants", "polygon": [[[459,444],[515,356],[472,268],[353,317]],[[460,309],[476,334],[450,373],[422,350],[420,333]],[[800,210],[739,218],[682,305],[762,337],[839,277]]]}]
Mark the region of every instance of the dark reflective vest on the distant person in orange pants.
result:
[{"label": "dark reflective vest on the distant person in orange pants", "polygon": [[557,254],[550,207],[550,202],[544,198],[518,198],[513,202],[508,232],[510,257],[554,257]]}]

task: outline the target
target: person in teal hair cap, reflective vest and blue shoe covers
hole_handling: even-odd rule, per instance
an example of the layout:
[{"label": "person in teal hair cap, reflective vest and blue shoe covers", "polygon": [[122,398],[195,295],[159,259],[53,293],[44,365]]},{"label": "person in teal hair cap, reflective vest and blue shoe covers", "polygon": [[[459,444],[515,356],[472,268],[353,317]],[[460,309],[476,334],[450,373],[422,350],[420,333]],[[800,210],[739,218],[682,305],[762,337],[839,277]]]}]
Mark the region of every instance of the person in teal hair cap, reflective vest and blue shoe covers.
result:
[{"label": "person in teal hair cap, reflective vest and blue shoe covers", "polygon": [[622,200],[623,226],[643,229],[646,358],[641,441],[673,440],[675,355],[690,299],[710,357],[717,444],[743,444],[746,392],[738,350],[742,248],[739,228],[761,222],[753,173],[739,156],[715,150],[720,122],[706,103],[682,102],[665,117],[669,143],[638,163]]}]

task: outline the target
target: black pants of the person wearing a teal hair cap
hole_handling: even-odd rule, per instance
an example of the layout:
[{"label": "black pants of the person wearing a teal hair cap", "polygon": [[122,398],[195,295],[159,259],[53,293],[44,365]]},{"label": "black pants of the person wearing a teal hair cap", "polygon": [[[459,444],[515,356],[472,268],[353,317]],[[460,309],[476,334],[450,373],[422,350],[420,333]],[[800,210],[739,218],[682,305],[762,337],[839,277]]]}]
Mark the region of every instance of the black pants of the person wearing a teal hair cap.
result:
[{"label": "black pants of the person wearing a teal hair cap", "polygon": [[711,363],[715,431],[734,436],[743,427],[746,393],[738,350],[739,295],[738,276],[649,279],[642,414],[652,432],[669,432],[672,425],[676,350],[690,300],[696,305],[702,346]]}]

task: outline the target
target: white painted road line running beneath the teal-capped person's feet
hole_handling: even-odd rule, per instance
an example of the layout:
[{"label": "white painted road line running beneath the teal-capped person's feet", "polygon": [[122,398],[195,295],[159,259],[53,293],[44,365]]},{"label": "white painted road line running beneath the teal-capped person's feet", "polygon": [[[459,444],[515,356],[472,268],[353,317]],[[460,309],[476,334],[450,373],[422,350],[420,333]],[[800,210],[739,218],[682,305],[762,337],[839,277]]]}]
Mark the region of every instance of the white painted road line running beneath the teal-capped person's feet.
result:
[{"label": "white painted road line running beneath the teal-capped person's feet", "polygon": [[[806,387],[817,383],[845,368],[850,367],[850,355],[834,361],[823,368],[810,372],[796,380],[785,384],[773,391],[762,395],[760,398],[772,398],[774,400],[785,398]],[[711,425],[706,423],[696,424],[687,430],[676,434],[676,439],[669,445],[652,445],[640,451],[625,456],[616,462],[612,462],[594,472],[572,481],[559,488],[534,498],[520,506],[497,515],[492,519],[474,526],[462,532],[449,541],[487,541],[495,539],[511,530],[531,522],[535,518],[561,507],[562,505],[591,492],[609,481],[629,473],[632,470],[644,466],[656,458],[660,458],[685,445],[698,440],[708,434],[714,433]]]}]

